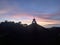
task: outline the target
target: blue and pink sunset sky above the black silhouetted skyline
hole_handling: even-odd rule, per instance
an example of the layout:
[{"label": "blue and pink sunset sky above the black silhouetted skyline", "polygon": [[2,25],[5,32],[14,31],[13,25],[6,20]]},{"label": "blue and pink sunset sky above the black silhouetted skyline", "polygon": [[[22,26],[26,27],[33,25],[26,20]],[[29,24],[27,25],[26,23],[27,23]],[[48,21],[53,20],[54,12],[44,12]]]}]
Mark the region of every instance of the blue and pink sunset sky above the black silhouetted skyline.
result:
[{"label": "blue and pink sunset sky above the black silhouetted skyline", "polygon": [[33,18],[44,27],[60,27],[60,0],[0,0],[0,22],[31,24]]}]

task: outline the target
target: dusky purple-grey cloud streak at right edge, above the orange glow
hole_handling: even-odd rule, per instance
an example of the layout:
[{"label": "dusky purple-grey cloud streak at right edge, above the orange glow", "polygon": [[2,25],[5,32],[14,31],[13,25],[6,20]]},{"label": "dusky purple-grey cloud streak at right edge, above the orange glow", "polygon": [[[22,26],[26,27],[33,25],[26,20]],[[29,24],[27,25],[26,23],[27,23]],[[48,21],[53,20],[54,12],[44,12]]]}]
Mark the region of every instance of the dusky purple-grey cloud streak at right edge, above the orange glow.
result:
[{"label": "dusky purple-grey cloud streak at right edge, above the orange glow", "polygon": [[49,20],[60,20],[60,12],[57,11],[52,14],[43,14],[40,17],[44,19],[49,19]]}]

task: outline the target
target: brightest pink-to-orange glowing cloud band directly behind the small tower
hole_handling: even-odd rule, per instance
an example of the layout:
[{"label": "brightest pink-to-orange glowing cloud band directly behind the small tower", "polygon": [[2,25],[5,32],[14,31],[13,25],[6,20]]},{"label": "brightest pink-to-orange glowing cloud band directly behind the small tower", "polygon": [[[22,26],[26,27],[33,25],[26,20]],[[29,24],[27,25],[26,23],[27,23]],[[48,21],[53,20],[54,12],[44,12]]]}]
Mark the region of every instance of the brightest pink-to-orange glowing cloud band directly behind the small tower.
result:
[{"label": "brightest pink-to-orange glowing cloud band directly behind the small tower", "polygon": [[[48,17],[48,16],[47,16]],[[16,21],[22,21],[22,23],[27,23],[29,22],[29,24],[32,22],[33,18],[36,18],[36,21],[38,24],[44,26],[44,25],[48,25],[48,24],[59,24],[59,20],[52,20],[52,19],[45,19],[39,16],[33,16],[32,14],[28,14],[28,13],[16,13],[13,15],[9,16],[10,19],[13,19]]]}]

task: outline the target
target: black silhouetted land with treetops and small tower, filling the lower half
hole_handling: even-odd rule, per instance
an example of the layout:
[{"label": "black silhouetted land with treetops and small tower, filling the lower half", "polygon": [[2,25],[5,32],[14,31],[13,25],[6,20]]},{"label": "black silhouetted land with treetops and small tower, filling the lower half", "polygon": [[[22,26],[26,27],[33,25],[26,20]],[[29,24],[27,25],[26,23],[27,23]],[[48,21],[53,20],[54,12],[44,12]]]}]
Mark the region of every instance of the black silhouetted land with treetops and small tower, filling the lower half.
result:
[{"label": "black silhouetted land with treetops and small tower, filling the lower half", "polygon": [[40,44],[55,45],[60,41],[60,27],[44,28],[33,19],[32,24],[0,23],[0,45]]}]

